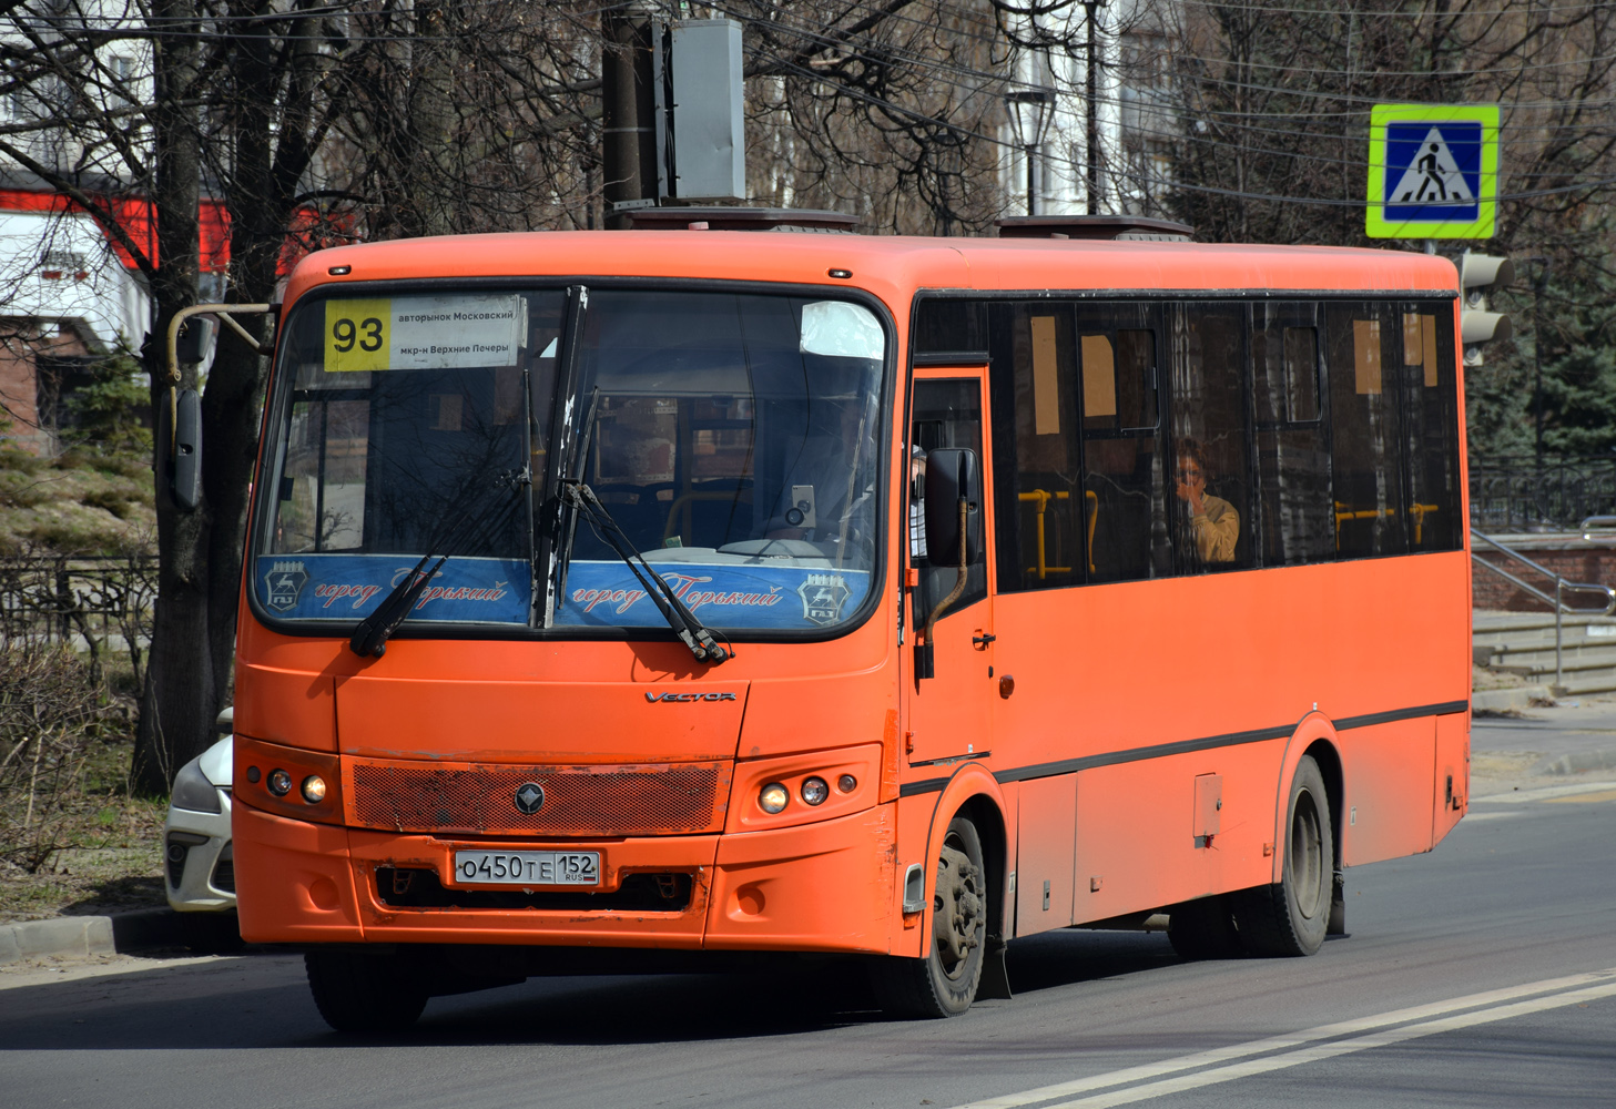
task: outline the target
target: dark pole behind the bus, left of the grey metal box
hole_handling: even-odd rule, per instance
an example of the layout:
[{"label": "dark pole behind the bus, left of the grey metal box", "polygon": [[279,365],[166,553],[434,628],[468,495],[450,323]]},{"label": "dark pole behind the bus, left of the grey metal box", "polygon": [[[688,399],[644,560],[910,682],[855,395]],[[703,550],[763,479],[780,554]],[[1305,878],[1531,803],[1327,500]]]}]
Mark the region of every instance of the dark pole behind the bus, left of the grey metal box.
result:
[{"label": "dark pole behind the bus, left of the grey metal box", "polygon": [[635,200],[656,202],[651,18],[640,3],[601,13],[601,192],[606,226],[627,230]]}]

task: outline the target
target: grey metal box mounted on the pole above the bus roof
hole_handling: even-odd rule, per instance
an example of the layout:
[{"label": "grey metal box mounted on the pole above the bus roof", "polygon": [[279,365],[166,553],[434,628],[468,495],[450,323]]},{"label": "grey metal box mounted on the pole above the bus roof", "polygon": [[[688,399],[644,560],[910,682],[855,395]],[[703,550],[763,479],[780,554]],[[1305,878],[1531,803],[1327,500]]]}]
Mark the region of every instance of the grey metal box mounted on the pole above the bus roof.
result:
[{"label": "grey metal box mounted on the pole above the bus roof", "polygon": [[740,24],[674,24],[674,194],[684,200],[747,196]]}]

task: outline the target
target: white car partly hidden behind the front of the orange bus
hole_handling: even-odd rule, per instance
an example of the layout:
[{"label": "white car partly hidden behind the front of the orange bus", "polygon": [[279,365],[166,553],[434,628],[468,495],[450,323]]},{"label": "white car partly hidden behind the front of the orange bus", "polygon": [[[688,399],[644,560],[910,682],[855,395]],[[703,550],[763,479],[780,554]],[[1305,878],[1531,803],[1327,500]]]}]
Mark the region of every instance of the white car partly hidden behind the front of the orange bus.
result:
[{"label": "white car partly hidden behind the front of the orange bus", "polygon": [[163,823],[163,879],[168,904],[181,913],[186,944],[218,951],[241,944],[236,923],[236,867],[229,844],[229,771],[234,757],[231,710],[226,732],[175,774]]}]

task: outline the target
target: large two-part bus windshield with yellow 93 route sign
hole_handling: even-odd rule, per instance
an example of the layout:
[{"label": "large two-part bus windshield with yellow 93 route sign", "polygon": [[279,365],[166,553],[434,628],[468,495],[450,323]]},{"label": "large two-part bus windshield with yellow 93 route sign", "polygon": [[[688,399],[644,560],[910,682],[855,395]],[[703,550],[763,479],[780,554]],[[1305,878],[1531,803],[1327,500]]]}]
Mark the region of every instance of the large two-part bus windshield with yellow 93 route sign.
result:
[{"label": "large two-part bus windshield with yellow 93 route sign", "polygon": [[[664,627],[596,525],[564,512],[562,477],[708,627],[814,632],[855,614],[882,533],[876,314],[755,293],[570,296],[574,351],[564,289],[367,288],[294,309],[257,516],[267,616],[354,622],[431,554],[448,558],[409,624]],[[540,566],[543,537],[558,550]]]}]

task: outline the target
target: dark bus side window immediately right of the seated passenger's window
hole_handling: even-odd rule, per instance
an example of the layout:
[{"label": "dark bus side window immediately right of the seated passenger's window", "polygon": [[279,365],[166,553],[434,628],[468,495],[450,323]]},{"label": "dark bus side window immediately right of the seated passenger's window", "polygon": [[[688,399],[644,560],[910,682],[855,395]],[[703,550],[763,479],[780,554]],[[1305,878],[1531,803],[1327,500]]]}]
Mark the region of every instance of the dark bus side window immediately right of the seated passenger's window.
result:
[{"label": "dark bus side window immediately right of the seated passenger's window", "polygon": [[1314,304],[1259,304],[1251,331],[1262,563],[1335,558],[1330,441],[1319,412]]}]

